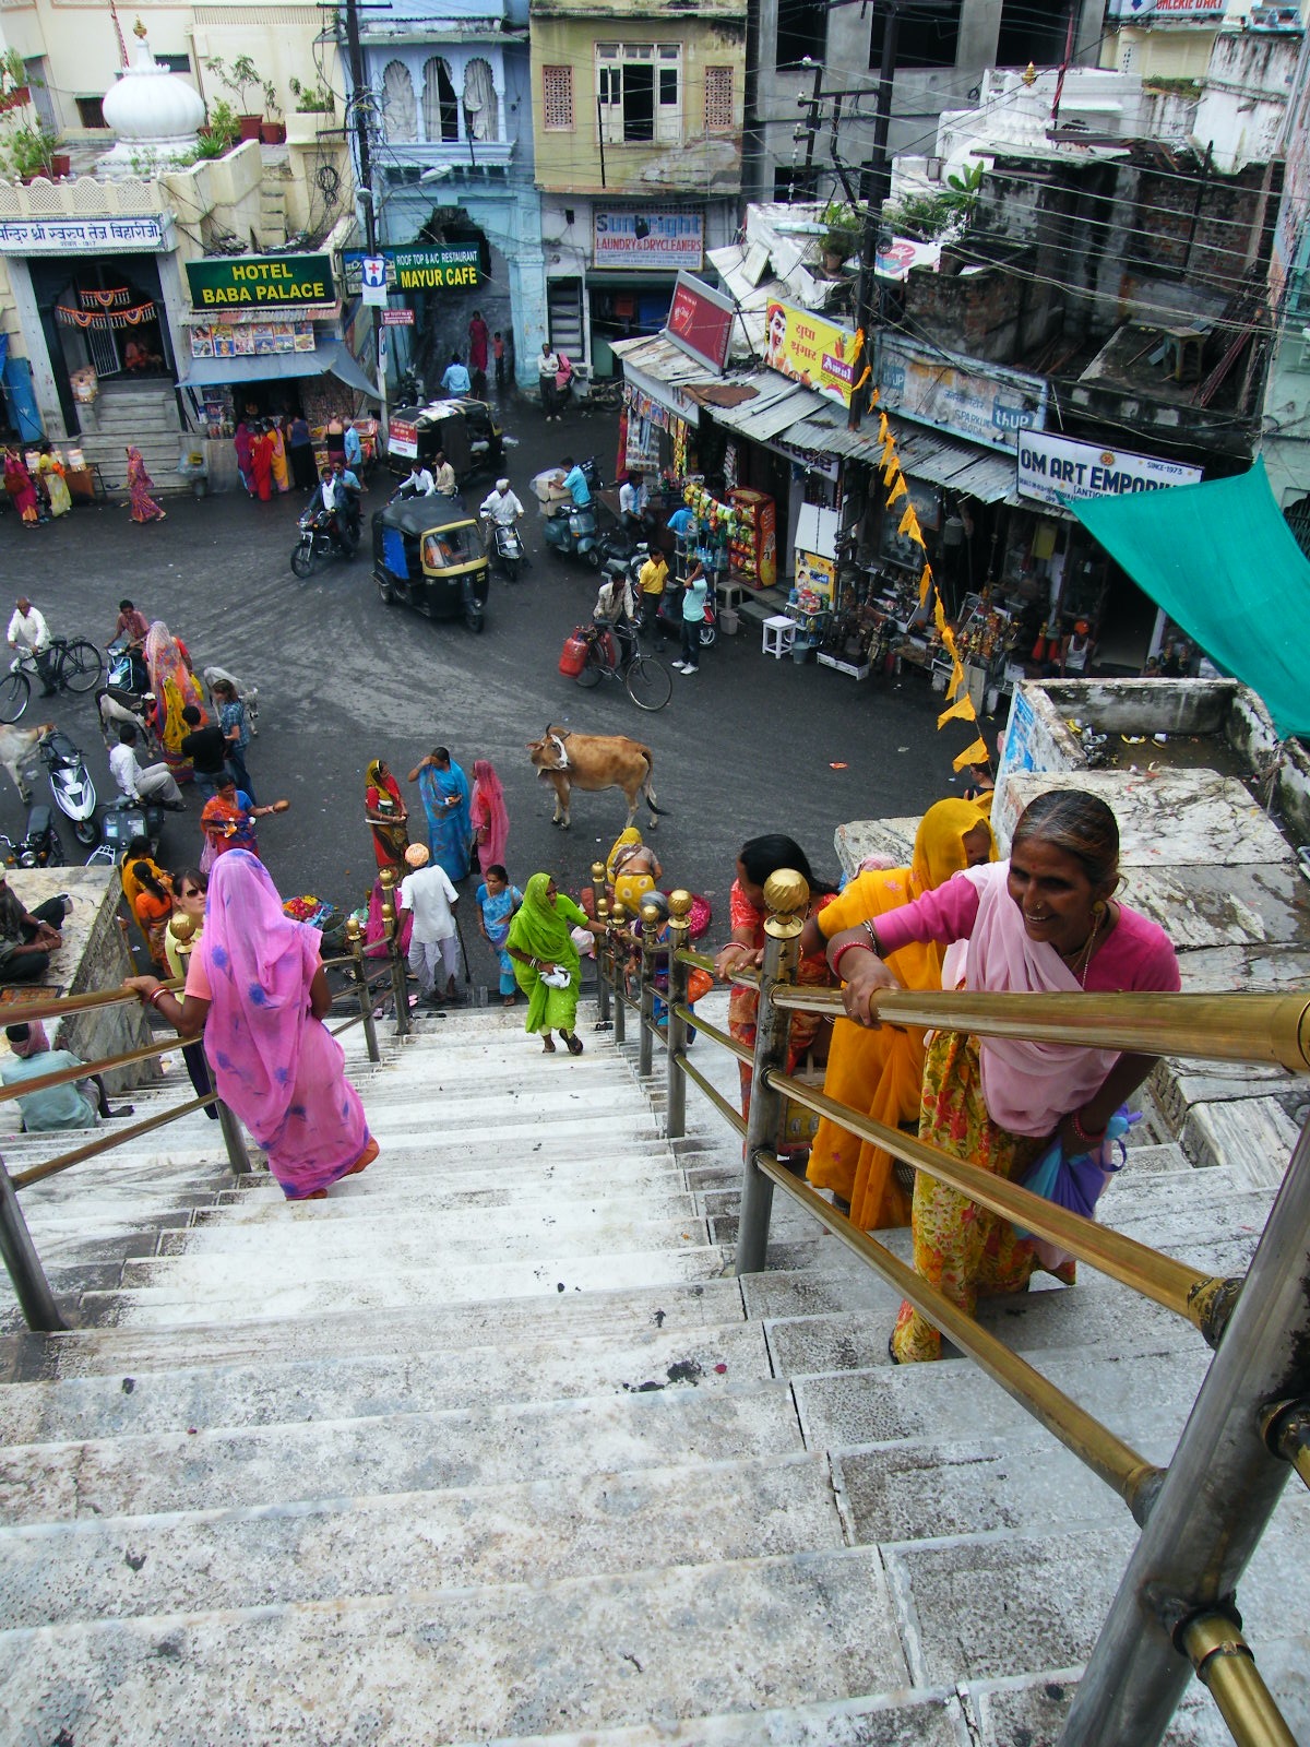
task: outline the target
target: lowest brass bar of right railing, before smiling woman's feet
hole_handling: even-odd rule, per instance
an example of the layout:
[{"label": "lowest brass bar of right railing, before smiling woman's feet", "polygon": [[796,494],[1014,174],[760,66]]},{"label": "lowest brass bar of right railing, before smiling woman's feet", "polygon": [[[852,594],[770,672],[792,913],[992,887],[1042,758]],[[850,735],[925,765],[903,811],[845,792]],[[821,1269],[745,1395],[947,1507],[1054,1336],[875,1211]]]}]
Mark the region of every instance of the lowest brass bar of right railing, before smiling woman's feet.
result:
[{"label": "lowest brass bar of right railing, before smiling woman's feet", "polygon": [[934,1286],[929,1286],[920,1274],[915,1274],[900,1256],[861,1232],[844,1214],[831,1207],[800,1177],[793,1176],[786,1165],[770,1153],[758,1153],[760,1170],[793,1200],[800,1202],[807,1212],[814,1214],[833,1237],[838,1237],[847,1249],[852,1249],[877,1274],[880,1274],[903,1298],[950,1335],[955,1345],[976,1359],[996,1382],[1039,1420],[1065,1448],[1072,1450],[1079,1462],[1085,1462],[1107,1487],[1125,1501],[1134,1516],[1142,1522],[1149,1501],[1160,1483],[1162,1471],[1146,1457],[1139,1455],[1109,1427],[1102,1426],[1092,1413],[1079,1408],[1076,1401],[1057,1389],[1027,1359],[1020,1359],[1003,1340],[957,1303],[952,1303]]}]

